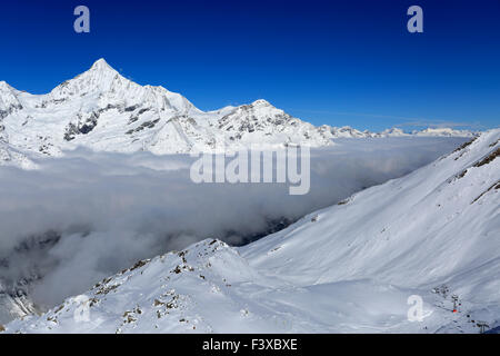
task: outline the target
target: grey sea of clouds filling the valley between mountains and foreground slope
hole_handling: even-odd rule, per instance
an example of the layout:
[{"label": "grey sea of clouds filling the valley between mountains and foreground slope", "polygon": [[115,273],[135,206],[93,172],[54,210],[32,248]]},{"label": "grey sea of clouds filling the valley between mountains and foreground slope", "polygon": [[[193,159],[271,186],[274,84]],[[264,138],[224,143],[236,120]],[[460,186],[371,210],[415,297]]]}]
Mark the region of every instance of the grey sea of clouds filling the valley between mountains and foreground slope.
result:
[{"label": "grey sea of clouds filling the valley between mountains and foreground slope", "polygon": [[0,281],[28,278],[33,300],[53,306],[139,259],[206,238],[248,243],[272,222],[403,176],[464,140],[337,140],[311,150],[303,196],[286,184],[193,184],[194,158],[182,155],[78,149],[37,161],[38,170],[0,167]]}]

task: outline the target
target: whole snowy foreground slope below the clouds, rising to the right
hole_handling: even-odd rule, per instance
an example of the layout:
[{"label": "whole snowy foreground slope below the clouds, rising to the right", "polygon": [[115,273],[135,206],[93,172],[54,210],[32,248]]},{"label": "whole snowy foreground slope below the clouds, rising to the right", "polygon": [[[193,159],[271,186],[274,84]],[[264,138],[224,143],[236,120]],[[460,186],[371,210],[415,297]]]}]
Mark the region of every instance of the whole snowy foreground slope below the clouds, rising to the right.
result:
[{"label": "whole snowy foreground slope below the clouds, rising to the right", "polygon": [[481,134],[282,231],[240,248],[207,239],[138,261],[6,332],[498,329],[499,156],[500,129]]}]

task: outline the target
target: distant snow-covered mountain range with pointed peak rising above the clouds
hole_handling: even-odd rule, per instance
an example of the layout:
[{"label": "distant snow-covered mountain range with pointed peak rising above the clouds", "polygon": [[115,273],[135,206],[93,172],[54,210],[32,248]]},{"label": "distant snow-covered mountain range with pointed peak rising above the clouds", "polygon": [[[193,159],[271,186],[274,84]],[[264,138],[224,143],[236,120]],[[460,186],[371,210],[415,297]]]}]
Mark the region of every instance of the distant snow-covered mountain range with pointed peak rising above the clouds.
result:
[{"label": "distant snow-covered mountain range with pointed peak rising above the clouds", "polygon": [[[417,134],[471,136],[451,129]],[[337,137],[404,135],[399,129],[372,134],[314,127],[266,100],[206,112],[179,93],[126,79],[103,59],[47,95],[30,95],[0,82],[0,165],[22,168],[36,167],[30,155],[60,156],[78,146],[163,155],[236,150],[252,144],[321,147]]]}]

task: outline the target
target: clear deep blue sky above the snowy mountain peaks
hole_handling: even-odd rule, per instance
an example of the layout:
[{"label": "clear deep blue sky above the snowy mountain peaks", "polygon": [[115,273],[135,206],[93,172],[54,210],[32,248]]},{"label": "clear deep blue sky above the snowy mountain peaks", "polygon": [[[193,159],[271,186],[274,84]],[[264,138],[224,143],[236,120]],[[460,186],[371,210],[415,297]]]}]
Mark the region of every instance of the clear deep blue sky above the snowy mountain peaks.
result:
[{"label": "clear deep blue sky above the snowy mountain peaks", "polygon": [[[73,31],[73,9],[91,32]],[[407,31],[411,4],[424,33]],[[498,0],[10,0],[0,80],[43,93],[106,58],[201,109],[259,98],[316,125],[500,122]]]}]

